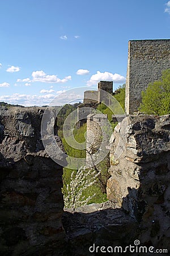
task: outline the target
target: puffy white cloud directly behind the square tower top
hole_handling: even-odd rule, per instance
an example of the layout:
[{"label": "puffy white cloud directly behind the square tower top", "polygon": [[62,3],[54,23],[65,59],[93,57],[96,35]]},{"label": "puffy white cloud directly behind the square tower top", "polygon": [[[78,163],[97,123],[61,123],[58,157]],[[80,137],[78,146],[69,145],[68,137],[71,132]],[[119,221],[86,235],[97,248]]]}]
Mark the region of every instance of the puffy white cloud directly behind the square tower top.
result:
[{"label": "puffy white cloud directly behind the square tower top", "polygon": [[87,81],[87,86],[96,85],[99,81],[114,81],[116,83],[119,83],[125,82],[126,79],[124,76],[121,76],[117,73],[101,73],[100,71],[97,71],[97,73],[95,75],[92,75],[90,80]]}]

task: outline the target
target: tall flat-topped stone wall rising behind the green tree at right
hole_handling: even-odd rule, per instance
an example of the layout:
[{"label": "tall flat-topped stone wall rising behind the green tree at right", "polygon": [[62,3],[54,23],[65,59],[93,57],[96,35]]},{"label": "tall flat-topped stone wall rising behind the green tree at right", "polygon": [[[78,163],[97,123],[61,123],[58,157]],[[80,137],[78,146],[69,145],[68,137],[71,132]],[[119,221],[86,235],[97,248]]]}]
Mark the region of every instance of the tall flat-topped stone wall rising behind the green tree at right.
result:
[{"label": "tall flat-topped stone wall rising behind the green tree at right", "polygon": [[170,40],[131,40],[128,49],[125,112],[133,114],[141,103],[141,92],[149,82],[160,80],[170,68]]}]

